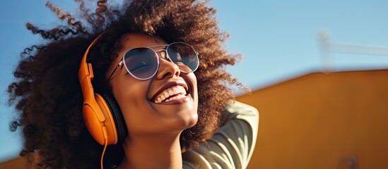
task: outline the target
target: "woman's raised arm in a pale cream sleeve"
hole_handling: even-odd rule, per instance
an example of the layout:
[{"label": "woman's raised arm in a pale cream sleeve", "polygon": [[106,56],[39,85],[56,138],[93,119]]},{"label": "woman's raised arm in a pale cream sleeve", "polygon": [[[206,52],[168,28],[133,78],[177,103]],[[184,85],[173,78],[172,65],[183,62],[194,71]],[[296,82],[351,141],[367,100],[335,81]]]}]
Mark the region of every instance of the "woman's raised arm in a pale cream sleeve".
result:
[{"label": "woman's raised arm in a pale cream sleeve", "polygon": [[235,101],[225,108],[221,123],[207,145],[201,144],[183,154],[183,168],[247,167],[257,138],[257,109]]}]

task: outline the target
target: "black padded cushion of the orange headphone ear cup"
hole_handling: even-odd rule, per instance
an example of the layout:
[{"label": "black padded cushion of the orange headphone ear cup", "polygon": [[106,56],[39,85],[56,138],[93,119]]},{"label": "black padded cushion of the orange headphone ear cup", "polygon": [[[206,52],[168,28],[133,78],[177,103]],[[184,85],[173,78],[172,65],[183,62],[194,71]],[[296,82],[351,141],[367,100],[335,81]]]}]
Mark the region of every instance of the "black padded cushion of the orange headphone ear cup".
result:
[{"label": "black padded cushion of the orange headphone ear cup", "polygon": [[117,132],[117,144],[123,143],[124,139],[127,137],[127,125],[125,125],[125,120],[122,116],[122,111],[119,107],[119,104],[117,104],[117,101],[114,99],[112,94],[101,92],[100,94],[96,95],[99,95],[109,108],[107,113],[110,113],[114,120],[114,127],[116,128]]}]

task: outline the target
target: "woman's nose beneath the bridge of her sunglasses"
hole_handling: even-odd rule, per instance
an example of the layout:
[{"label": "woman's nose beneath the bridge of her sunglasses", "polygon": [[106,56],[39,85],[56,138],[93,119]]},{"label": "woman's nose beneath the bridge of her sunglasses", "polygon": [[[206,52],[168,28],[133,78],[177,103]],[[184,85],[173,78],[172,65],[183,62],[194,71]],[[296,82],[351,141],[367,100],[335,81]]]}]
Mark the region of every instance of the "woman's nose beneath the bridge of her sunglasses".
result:
[{"label": "woman's nose beneath the bridge of her sunglasses", "polygon": [[156,78],[159,80],[166,77],[180,76],[180,68],[175,63],[167,61],[167,58],[159,57],[159,70],[156,73]]}]

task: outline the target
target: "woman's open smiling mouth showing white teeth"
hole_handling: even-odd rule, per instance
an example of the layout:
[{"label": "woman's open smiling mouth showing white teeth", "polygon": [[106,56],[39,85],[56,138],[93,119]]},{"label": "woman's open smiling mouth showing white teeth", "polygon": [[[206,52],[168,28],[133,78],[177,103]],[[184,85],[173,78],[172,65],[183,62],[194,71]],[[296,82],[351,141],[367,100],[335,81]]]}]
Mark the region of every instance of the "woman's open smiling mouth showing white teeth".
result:
[{"label": "woman's open smiling mouth showing white teeth", "polygon": [[187,96],[187,90],[181,85],[174,85],[164,89],[162,92],[159,92],[153,102],[155,104],[160,104],[163,102],[170,102],[179,99],[183,99]]}]

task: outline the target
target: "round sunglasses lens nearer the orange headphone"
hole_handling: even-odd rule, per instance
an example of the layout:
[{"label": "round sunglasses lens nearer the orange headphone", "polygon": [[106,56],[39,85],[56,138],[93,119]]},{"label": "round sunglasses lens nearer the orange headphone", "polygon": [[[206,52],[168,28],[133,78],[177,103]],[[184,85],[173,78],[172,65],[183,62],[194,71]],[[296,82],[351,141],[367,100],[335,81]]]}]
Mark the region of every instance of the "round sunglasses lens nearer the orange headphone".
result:
[{"label": "round sunglasses lens nearer the orange headphone", "polygon": [[139,80],[148,80],[158,71],[158,58],[148,48],[135,48],[124,55],[124,65],[128,72]]}]

